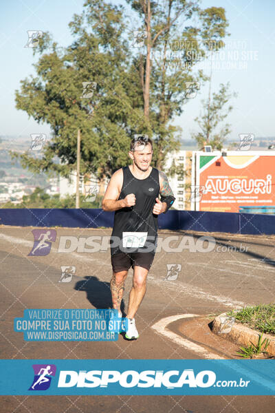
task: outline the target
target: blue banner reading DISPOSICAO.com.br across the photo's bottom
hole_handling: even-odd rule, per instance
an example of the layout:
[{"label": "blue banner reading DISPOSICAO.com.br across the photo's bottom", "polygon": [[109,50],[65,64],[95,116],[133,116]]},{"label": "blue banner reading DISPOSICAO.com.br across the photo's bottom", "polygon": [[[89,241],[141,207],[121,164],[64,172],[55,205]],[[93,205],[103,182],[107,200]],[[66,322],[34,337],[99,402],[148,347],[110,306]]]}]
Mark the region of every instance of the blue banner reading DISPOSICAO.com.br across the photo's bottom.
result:
[{"label": "blue banner reading DISPOSICAO.com.br across the photo's bottom", "polygon": [[1,360],[1,395],[274,395],[275,360]]}]

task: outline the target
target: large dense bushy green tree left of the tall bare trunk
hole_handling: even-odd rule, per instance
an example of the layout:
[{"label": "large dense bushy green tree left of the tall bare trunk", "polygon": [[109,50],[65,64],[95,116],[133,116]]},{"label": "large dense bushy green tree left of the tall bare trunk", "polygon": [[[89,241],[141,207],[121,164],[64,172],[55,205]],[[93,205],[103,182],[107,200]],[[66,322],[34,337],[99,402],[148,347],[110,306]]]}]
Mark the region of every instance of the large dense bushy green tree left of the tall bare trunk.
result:
[{"label": "large dense bushy green tree left of the tall bare trunk", "polygon": [[[39,123],[50,124],[53,131],[42,157],[30,151],[13,154],[35,173],[56,171],[71,176],[76,170],[80,129],[80,173],[109,177],[127,165],[129,134],[142,124],[140,108],[133,107],[137,94],[127,93],[131,79],[126,71],[129,56],[122,38],[121,8],[94,0],[87,1],[86,8],[69,23],[76,36],[72,45],[60,50],[50,34],[43,36],[34,48],[41,55],[34,65],[38,76],[22,81],[16,92],[17,108]],[[83,82],[91,82],[96,89],[84,93]]]}]

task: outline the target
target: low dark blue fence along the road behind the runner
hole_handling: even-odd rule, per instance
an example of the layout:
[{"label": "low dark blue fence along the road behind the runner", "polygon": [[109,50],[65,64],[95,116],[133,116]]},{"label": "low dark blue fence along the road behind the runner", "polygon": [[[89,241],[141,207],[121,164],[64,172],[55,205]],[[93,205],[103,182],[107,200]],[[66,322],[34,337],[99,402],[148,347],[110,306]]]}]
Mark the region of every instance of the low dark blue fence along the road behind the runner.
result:
[{"label": "low dark blue fence along the road behind the runner", "polygon": [[[102,209],[0,209],[0,224],[111,227],[113,213]],[[171,210],[159,215],[159,229],[271,235],[275,234],[275,215]]]}]

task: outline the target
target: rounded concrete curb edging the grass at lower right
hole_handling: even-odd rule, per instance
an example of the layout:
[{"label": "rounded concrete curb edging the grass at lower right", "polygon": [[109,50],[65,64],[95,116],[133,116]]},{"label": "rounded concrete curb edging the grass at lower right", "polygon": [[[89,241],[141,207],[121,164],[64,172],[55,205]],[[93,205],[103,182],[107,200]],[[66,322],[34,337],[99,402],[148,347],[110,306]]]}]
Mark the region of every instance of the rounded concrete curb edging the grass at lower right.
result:
[{"label": "rounded concrete curb edging the grass at lower right", "polygon": [[[252,328],[243,326],[243,324],[236,324],[232,317],[223,313],[216,317],[212,324],[212,332],[224,337],[234,343],[239,343],[241,346],[250,346],[253,343],[255,346],[259,341],[261,333],[252,330]],[[263,339],[269,339],[270,343],[266,351],[275,356],[275,337],[269,334],[263,334]]]}]

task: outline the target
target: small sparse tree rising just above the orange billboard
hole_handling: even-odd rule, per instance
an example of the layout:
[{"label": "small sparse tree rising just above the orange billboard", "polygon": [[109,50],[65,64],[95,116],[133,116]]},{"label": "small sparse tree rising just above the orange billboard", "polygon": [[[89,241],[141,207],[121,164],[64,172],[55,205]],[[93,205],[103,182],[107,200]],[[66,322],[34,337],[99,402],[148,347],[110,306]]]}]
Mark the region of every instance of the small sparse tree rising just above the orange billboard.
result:
[{"label": "small sparse tree rising just above the orange billboard", "polygon": [[[221,83],[219,92],[212,94],[212,99],[202,100],[203,112],[195,118],[201,131],[192,134],[199,147],[203,145],[211,145],[212,149],[220,150],[223,147],[223,142],[230,134],[230,125],[226,123],[222,125],[223,120],[230,114],[233,107],[227,106],[230,98],[236,97],[236,93],[229,92],[230,84],[223,85]],[[220,129],[219,129],[220,127]]]}]

